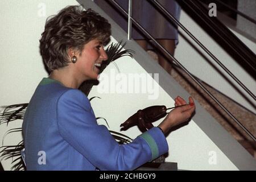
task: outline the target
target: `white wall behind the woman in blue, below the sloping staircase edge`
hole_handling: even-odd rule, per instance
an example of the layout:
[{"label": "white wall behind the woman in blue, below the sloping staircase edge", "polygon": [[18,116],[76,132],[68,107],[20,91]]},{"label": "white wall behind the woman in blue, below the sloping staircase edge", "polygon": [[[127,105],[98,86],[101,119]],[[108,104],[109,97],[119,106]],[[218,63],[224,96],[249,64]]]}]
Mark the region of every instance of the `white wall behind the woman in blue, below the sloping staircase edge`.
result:
[{"label": "white wall behind the woman in blue, below the sloping staircase edge", "polygon": [[[38,16],[39,3],[45,3],[46,16]],[[75,5],[76,1],[1,1],[1,71],[0,105],[28,102],[42,77],[46,77],[42,59],[39,55],[39,38],[48,15],[56,14],[66,5]],[[115,41],[115,40],[113,40]],[[133,59],[123,57],[117,62],[121,73],[144,73],[146,71]],[[110,74],[117,69],[113,64],[104,71]],[[161,78],[159,78],[161,79]],[[104,82],[101,82],[104,84]],[[100,86],[100,85],[99,85]],[[159,88],[158,100],[148,100],[147,94],[101,94],[94,86],[89,94],[101,97],[92,100],[96,117],[107,119],[110,130],[119,131],[119,125],[138,109],[151,105],[173,106],[174,100],[162,88]],[[125,96],[125,97],[123,97]],[[160,121],[155,122],[158,125]],[[104,122],[100,122],[104,123]],[[21,122],[13,123],[10,128],[20,127]],[[0,139],[7,131],[0,126]],[[133,127],[125,132],[135,138],[141,132]],[[189,137],[188,137],[189,136]],[[16,144],[20,135],[9,135],[4,144]],[[170,155],[167,161],[177,162],[179,169],[198,170],[236,170],[232,162],[223,154],[201,129],[191,121],[188,126],[174,131],[168,137]],[[199,142],[200,140],[200,142]],[[210,164],[212,153],[216,154],[216,164]],[[10,160],[3,161],[3,167],[10,169]]]}]

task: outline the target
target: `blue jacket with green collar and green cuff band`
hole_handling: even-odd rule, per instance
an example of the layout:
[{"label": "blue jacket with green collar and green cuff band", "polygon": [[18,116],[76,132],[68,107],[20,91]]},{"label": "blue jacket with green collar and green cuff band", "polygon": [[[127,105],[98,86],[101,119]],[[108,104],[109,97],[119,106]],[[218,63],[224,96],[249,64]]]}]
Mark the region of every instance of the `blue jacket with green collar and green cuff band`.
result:
[{"label": "blue jacket with green collar and green cuff band", "polygon": [[119,145],[80,90],[43,78],[23,122],[28,170],[131,170],[165,154],[158,127]]}]

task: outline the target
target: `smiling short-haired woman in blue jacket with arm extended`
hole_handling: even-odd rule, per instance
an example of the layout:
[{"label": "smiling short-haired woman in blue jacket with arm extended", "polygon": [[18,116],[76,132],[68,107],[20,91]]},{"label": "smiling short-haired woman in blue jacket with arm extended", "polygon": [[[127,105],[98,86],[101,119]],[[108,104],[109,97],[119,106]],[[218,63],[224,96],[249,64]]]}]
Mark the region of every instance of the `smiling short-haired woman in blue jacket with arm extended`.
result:
[{"label": "smiling short-haired woman in blue jacket with arm extended", "polygon": [[[36,88],[23,122],[28,170],[135,169],[166,153],[164,134],[191,117],[195,106],[189,98],[190,105],[172,110],[159,127],[125,145],[97,125],[88,98],[77,88],[97,79],[98,67],[108,59],[103,46],[109,37],[108,21],[81,6],[68,6],[47,20],[40,53],[51,74]],[[183,104],[176,98],[175,105]]]}]

